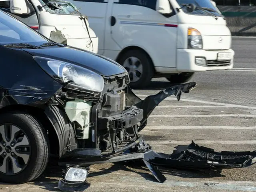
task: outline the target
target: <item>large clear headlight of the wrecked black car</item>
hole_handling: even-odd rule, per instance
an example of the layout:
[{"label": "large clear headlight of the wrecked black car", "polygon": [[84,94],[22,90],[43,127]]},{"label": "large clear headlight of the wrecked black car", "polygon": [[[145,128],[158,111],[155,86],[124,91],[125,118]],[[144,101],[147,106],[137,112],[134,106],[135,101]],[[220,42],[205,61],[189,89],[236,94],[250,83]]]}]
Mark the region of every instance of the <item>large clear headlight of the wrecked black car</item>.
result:
[{"label": "large clear headlight of the wrecked black car", "polygon": [[34,60],[50,76],[60,84],[66,84],[68,88],[92,92],[102,92],[104,88],[102,76],[86,68],[51,58],[34,56]]}]

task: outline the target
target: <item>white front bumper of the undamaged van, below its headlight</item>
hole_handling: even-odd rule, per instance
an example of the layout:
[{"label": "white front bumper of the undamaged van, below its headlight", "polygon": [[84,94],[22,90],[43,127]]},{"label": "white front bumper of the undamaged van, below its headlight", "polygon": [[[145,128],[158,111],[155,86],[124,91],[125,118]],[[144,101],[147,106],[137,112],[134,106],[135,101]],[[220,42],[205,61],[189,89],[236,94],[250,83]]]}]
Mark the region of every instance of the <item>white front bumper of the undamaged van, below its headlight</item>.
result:
[{"label": "white front bumper of the undamaged van, below its headlight", "polygon": [[[217,54],[230,52],[231,59],[218,61]],[[196,58],[205,58],[206,64],[196,64]],[[177,49],[178,72],[200,72],[208,70],[227,70],[234,66],[234,50],[192,50]]]}]

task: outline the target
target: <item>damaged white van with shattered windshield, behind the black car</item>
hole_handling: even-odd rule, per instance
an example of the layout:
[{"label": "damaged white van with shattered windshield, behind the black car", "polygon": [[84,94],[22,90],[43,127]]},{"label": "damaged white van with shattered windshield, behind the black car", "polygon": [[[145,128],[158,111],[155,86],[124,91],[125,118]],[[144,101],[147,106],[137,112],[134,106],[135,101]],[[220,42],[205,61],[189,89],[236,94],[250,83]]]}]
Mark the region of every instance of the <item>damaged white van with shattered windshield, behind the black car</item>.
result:
[{"label": "damaged white van with shattered windshield, behind the black car", "polygon": [[0,9],[54,42],[98,52],[98,37],[89,27],[86,17],[70,2],[1,0]]}]

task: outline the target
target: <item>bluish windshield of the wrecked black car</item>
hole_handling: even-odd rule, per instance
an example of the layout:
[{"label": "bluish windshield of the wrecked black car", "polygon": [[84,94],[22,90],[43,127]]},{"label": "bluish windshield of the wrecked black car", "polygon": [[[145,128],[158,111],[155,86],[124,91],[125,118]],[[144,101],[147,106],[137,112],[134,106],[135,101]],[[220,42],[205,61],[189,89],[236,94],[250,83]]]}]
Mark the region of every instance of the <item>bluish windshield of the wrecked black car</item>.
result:
[{"label": "bluish windshield of the wrecked black car", "polygon": [[0,10],[0,44],[26,43],[35,46],[49,42],[19,20]]}]

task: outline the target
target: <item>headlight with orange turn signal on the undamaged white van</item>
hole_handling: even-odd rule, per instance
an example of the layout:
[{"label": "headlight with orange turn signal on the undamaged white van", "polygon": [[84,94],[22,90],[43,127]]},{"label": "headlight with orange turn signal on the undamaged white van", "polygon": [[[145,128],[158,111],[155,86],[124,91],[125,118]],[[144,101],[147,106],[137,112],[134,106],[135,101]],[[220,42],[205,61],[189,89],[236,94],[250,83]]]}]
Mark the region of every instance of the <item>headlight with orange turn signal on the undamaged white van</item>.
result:
[{"label": "headlight with orange turn signal on the undamaged white van", "polygon": [[201,33],[194,29],[188,28],[188,49],[202,49],[203,40]]}]

